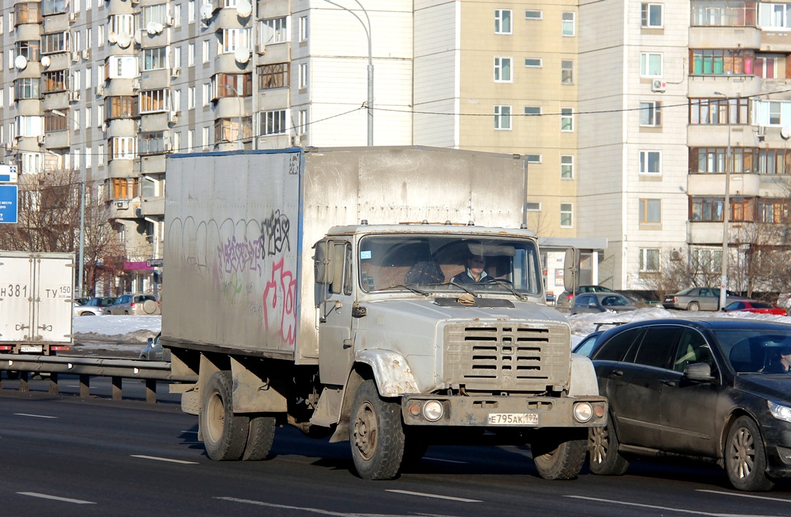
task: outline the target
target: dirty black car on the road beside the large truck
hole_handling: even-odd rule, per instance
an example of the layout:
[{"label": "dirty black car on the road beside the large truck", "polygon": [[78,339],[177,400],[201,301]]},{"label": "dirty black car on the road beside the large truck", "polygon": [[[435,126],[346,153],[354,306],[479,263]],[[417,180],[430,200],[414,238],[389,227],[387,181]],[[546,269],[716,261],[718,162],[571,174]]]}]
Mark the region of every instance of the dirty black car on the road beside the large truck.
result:
[{"label": "dirty black car on the road beside the large truck", "polygon": [[[589,432],[593,474],[624,474],[629,455],[682,455],[725,466],[740,490],[791,477],[791,325],[658,319],[601,334],[589,357],[610,402]],[[782,355],[781,355],[782,354]]]}]

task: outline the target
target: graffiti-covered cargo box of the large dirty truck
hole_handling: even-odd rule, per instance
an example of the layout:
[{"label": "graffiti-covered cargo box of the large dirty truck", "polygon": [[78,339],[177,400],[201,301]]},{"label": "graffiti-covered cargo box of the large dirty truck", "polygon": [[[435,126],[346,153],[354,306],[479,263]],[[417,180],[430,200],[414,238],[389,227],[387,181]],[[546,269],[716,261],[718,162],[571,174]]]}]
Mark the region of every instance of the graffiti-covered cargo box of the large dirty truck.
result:
[{"label": "graffiti-covered cargo box of the large dirty truck", "polygon": [[510,155],[420,147],[169,157],[165,268],[179,287],[163,290],[163,335],[315,364],[312,246],[329,228],[519,228],[524,173]]}]

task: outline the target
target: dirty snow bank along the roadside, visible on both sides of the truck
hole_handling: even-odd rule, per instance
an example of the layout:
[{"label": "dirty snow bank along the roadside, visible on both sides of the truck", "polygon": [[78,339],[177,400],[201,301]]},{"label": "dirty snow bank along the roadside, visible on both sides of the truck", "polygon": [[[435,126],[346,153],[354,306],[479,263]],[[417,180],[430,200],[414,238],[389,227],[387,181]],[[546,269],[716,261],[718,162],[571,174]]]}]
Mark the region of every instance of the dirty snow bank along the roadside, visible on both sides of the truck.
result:
[{"label": "dirty snow bank along the roadside, visible on both sides of the truck", "polygon": [[[759,315],[749,312],[723,314],[713,311],[691,313],[687,311],[668,311],[664,308],[645,308],[620,314],[581,314],[567,316],[571,325],[571,342],[576,345],[586,335],[596,330],[596,323],[642,321],[660,318],[749,318],[777,323],[791,323],[791,316]],[[74,318],[75,341],[90,344],[93,342],[119,342],[143,344],[146,339],[157,335],[161,330],[161,316],[80,316]],[[607,329],[608,327],[604,327]]]}]

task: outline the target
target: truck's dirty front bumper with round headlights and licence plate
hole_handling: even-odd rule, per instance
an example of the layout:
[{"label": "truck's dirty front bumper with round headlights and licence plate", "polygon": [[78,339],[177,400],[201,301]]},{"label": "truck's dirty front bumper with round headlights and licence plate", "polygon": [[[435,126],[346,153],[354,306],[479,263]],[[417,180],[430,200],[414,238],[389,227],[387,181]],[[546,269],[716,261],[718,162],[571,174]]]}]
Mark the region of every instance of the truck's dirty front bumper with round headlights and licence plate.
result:
[{"label": "truck's dirty front bumper with round headlights and licence plate", "polygon": [[607,425],[604,397],[405,395],[406,425],[588,428]]}]

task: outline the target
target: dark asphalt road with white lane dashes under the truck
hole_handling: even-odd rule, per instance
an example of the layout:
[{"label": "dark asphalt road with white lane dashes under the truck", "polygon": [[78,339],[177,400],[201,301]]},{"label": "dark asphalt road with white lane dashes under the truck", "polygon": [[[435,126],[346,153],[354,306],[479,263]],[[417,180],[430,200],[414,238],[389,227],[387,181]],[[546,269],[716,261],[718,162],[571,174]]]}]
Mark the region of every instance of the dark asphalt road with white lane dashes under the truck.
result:
[{"label": "dark asphalt road with white lane dashes under the truck", "polygon": [[[527,447],[430,447],[393,481],[353,473],[348,443],[278,429],[270,459],[213,462],[172,395],[0,391],[0,517],[16,515],[791,515],[791,491],[742,493],[716,466],[636,461],[623,477],[544,481]],[[62,379],[61,383],[69,383]]]}]

